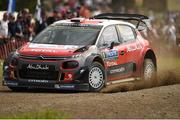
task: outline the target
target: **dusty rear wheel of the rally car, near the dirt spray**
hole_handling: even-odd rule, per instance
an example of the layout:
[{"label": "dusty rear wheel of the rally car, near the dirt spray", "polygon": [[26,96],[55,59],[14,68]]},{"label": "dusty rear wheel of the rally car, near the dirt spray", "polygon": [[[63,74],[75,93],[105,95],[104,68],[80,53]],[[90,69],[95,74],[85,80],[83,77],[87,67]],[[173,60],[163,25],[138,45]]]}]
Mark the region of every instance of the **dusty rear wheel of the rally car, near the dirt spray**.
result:
[{"label": "dusty rear wheel of the rally car, near the dirt spray", "polygon": [[143,64],[143,76],[142,79],[144,80],[146,87],[153,87],[156,86],[156,67],[155,64],[151,59],[145,59]]}]

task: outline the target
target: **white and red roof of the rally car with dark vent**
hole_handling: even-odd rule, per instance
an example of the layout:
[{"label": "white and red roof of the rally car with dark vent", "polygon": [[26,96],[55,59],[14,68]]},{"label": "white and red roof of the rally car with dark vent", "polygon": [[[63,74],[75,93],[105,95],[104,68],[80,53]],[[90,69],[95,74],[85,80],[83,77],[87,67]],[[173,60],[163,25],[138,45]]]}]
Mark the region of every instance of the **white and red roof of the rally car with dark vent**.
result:
[{"label": "white and red roof of the rally car with dark vent", "polygon": [[75,24],[78,23],[80,25],[92,25],[92,26],[109,26],[109,25],[116,25],[116,24],[123,24],[123,25],[129,25],[133,28],[136,28],[135,25],[133,25],[130,22],[122,21],[122,20],[108,20],[108,19],[85,19],[85,18],[73,18],[68,20],[60,20],[55,23],[53,23],[52,26],[58,26],[58,25],[64,25],[64,24]]}]

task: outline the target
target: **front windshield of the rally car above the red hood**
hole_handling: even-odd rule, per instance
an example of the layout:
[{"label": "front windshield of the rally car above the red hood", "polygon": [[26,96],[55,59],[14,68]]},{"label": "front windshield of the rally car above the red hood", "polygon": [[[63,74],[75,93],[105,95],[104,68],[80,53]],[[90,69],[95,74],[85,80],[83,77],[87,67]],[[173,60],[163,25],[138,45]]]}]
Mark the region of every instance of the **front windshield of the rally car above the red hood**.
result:
[{"label": "front windshield of the rally car above the red hood", "polygon": [[49,27],[32,41],[39,44],[93,45],[101,27],[57,26]]}]

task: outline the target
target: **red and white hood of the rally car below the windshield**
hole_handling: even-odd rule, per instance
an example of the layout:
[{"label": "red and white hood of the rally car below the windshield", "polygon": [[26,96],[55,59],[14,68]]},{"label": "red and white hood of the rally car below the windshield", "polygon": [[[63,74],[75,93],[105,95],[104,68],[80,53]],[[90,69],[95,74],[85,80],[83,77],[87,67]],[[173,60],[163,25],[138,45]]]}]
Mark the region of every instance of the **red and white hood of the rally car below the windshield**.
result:
[{"label": "red and white hood of the rally car below the windshield", "polygon": [[21,55],[30,56],[72,56],[74,52],[83,46],[76,45],[53,45],[53,44],[37,44],[27,43],[22,46],[18,52]]}]

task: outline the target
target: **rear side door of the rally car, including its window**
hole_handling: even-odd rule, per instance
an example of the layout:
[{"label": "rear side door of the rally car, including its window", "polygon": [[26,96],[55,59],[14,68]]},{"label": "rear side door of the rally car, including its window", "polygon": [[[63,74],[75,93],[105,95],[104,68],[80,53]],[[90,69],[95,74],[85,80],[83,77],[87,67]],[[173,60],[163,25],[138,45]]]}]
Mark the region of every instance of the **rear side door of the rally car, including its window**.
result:
[{"label": "rear side door of the rally car, including its window", "polygon": [[[128,25],[117,25],[118,35],[123,42],[126,58],[126,77],[134,77],[137,72],[138,61],[141,58],[141,44],[137,39],[135,29]],[[121,58],[119,58],[121,59]]]}]

